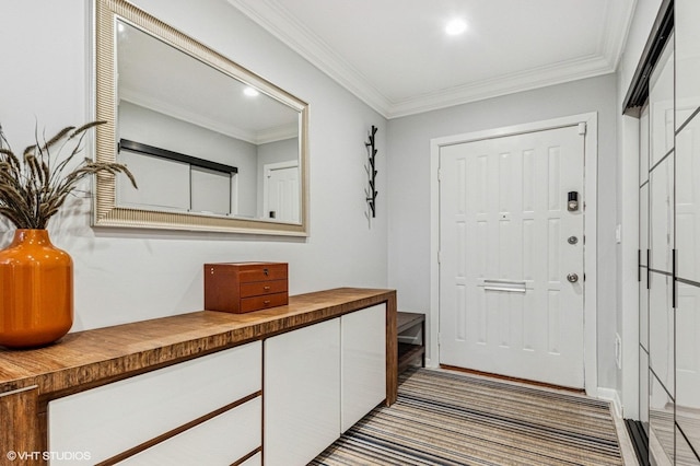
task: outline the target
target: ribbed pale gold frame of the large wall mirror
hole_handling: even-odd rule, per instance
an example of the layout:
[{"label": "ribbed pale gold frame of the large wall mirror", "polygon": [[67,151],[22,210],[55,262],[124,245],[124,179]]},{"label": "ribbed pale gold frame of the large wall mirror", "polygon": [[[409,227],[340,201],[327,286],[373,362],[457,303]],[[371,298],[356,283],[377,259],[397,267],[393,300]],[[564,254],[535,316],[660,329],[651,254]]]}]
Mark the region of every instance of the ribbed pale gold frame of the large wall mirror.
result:
[{"label": "ribbed pale gold frame of the large wall mirror", "polygon": [[[117,19],[133,24],[180,51],[235,80],[256,88],[300,113],[301,221],[299,223],[282,223],[269,220],[119,207],[116,199],[116,177],[97,175],[94,189],[93,225],[307,236],[308,104],[124,0],[95,0],[95,117],[97,120],[107,121],[96,127],[96,160],[116,162],[118,104],[116,100],[115,57],[117,50],[115,32]],[[138,183],[145,184],[148,179],[138,179]]]}]

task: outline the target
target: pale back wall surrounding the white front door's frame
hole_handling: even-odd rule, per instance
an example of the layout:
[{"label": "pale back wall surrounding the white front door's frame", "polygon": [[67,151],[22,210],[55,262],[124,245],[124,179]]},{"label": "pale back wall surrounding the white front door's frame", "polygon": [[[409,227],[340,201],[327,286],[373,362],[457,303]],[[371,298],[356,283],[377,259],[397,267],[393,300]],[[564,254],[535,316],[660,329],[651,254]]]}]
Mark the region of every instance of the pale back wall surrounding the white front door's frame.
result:
[{"label": "pale back wall surrounding the white front door's frame", "polygon": [[436,312],[430,308],[430,140],[597,112],[598,386],[616,388],[616,102],[608,74],[389,120],[388,271],[399,310]]}]

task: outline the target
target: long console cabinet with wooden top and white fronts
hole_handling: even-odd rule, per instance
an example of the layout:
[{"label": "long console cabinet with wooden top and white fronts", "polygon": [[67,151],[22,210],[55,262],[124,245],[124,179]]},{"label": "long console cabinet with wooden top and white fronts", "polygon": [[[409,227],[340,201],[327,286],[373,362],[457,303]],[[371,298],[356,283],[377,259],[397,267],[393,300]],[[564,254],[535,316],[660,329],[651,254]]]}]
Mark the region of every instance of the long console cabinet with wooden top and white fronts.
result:
[{"label": "long console cabinet with wooden top and white fronts", "polygon": [[338,288],[0,349],[0,451],[32,466],[303,466],[397,397],[396,292]]}]

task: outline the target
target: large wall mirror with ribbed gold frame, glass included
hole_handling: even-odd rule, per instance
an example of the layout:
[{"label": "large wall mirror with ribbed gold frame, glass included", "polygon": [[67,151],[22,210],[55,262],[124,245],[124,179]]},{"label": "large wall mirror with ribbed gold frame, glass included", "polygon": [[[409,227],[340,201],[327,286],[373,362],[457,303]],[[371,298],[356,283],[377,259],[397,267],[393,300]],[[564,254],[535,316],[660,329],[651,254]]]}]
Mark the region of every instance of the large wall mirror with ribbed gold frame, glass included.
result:
[{"label": "large wall mirror with ribbed gold frame, glass included", "polygon": [[95,45],[95,225],[306,235],[307,104],[126,1]]}]

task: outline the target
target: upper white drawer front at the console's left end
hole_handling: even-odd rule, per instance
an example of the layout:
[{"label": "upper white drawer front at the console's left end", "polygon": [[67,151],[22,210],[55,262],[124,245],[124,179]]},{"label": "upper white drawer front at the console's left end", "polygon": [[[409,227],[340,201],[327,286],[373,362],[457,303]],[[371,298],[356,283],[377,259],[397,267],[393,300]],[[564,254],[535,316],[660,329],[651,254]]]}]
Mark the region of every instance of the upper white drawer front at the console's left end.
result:
[{"label": "upper white drawer front at the console's left end", "polygon": [[103,462],[258,392],[261,360],[255,341],[55,399],[48,446]]}]

